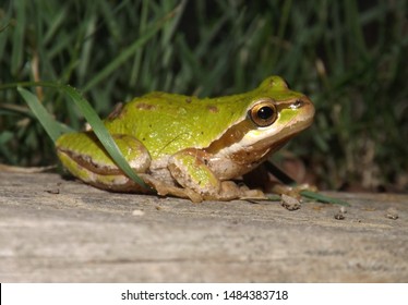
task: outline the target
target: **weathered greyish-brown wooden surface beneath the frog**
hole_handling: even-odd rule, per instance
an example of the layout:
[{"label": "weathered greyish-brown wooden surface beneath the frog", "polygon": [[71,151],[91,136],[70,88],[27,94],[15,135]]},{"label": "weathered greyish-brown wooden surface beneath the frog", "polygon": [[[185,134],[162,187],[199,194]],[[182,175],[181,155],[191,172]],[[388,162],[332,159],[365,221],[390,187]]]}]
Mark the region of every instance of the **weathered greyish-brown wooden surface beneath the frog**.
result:
[{"label": "weathered greyish-brown wooden surface beneath the frog", "polygon": [[0,282],[408,282],[408,196],[333,195],[343,220],[0,172]]}]

